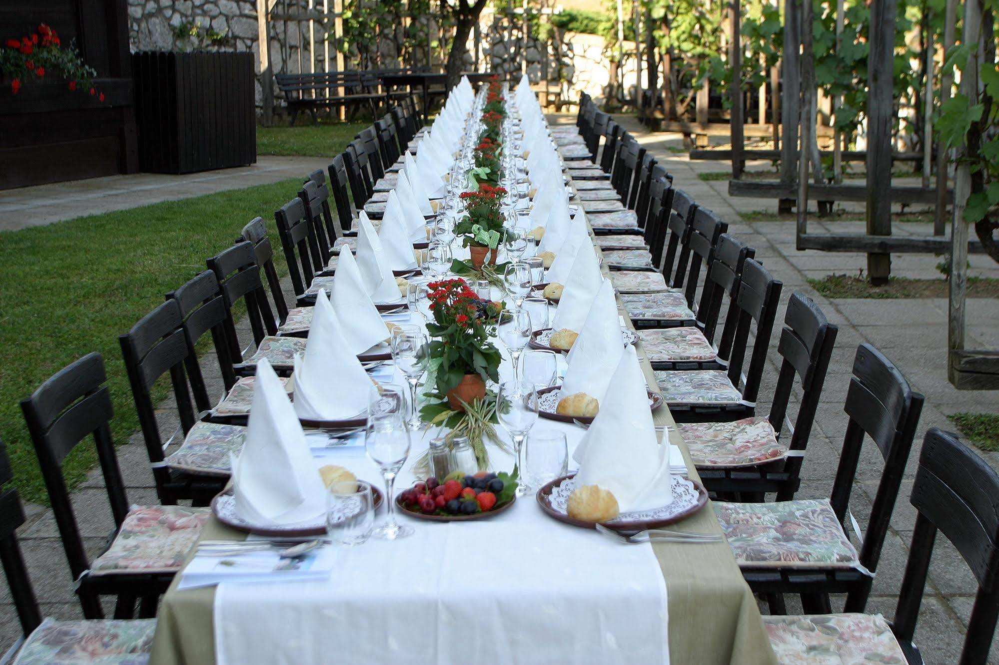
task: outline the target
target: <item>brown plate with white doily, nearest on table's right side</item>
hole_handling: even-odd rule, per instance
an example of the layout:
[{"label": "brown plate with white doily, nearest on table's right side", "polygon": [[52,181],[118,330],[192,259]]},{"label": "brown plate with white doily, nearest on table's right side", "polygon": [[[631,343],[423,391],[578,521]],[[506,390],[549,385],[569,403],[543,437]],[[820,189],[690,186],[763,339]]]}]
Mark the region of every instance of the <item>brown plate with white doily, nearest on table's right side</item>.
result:
[{"label": "brown plate with white doily, nearest on table's right side", "polygon": [[[568,496],[575,488],[572,478],[575,473],[545,483],[535,494],[537,503],[549,517],[584,529],[596,528],[596,522],[569,517],[566,509]],[[635,532],[654,529],[678,522],[697,512],[707,503],[707,490],[696,480],[682,475],[671,475],[673,500],[668,504],[650,510],[622,512],[611,520],[600,522],[614,531]]]}]

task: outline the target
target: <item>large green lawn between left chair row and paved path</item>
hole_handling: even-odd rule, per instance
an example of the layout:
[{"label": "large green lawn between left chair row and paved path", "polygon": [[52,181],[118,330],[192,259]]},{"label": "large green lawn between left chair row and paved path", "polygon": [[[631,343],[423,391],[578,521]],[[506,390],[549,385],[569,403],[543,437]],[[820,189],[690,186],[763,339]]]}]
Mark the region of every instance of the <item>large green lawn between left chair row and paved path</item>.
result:
[{"label": "large green lawn between left chair row and paved path", "polygon": [[[291,179],[0,233],[0,344],[9,360],[0,372],[0,438],[26,500],[47,503],[20,399],[64,365],[100,351],[115,409],[112,434],[127,442],[139,421],[118,335],[204,271],[205,260],[258,215],[277,242],[271,211],[300,185]],[[284,261],[276,267],[288,271]],[[156,387],[157,399],[166,393],[166,382]],[[95,462],[89,441],[78,446],[63,463],[70,486]]]}]

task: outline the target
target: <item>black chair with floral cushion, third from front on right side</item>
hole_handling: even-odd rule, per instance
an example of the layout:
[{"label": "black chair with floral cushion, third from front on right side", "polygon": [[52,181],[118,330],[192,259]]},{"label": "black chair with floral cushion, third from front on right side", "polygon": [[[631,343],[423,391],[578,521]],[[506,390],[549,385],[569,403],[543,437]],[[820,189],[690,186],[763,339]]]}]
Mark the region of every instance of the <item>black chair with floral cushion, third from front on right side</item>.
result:
[{"label": "black chair with floral cushion, third from front on right side", "polygon": [[[794,498],[837,330],[810,298],[791,294],[777,343],[783,359],[770,413],[676,426],[708,491],[743,501],[763,500],[767,493],[776,493],[778,501]],[[792,425],[787,407],[795,379],[801,398]],[[782,435],[785,422],[789,438]]]}]

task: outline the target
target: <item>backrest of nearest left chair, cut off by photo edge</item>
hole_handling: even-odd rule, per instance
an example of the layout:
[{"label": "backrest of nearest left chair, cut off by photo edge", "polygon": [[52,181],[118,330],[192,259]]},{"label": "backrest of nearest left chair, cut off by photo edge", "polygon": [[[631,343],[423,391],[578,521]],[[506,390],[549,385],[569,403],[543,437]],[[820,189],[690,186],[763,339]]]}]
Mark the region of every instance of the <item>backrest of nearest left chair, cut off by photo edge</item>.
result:
[{"label": "backrest of nearest left chair, cut off by photo edge", "polygon": [[[7,446],[0,441],[0,487],[7,486],[14,474],[10,469],[10,459],[7,457]],[[38,600],[31,588],[31,578],[28,577],[28,567],[24,564],[21,547],[17,543],[17,527],[24,524],[24,508],[17,490],[8,487],[0,491],[0,562],[7,576],[7,586],[10,588],[14,609],[21,622],[21,639],[38,627],[42,622],[42,612]],[[15,644],[13,648],[19,646]],[[12,650],[13,650],[12,648]]]}]

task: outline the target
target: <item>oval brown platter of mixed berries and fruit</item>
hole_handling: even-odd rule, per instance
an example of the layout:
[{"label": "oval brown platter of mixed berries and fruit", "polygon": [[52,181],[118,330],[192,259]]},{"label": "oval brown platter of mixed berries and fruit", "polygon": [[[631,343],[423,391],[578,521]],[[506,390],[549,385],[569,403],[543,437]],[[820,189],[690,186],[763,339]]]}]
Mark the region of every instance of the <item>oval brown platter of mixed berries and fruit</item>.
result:
[{"label": "oval brown platter of mixed berries and fruit", "polygon": [[444,482],[435,477],[417,482],[396,496],[396,505],[411,517],[439,522],[485,519],[499,514],[516,499],[516,475],[452,473]]}]

